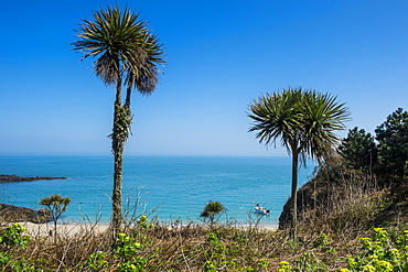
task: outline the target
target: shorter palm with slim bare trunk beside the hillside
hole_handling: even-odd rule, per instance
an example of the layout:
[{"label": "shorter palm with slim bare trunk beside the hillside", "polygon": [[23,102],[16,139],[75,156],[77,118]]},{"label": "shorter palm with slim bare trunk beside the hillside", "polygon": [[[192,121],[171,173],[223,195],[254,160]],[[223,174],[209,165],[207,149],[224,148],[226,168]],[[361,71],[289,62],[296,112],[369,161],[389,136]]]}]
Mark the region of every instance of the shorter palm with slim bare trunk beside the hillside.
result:
[{"label": "shorter palm with slim bare trunk beside the hillside", "polygon": [[307,156],[328,160],[340,140],[334,132],[344,129],[348,111],[336,97],[302,88],[261,96],[249,110],[248,117],[255,121],[249,131],[257,132],[259,142],[270,145],[280,139],[292,155],[291,235],[296,237],[299,161],[305,164]]}]

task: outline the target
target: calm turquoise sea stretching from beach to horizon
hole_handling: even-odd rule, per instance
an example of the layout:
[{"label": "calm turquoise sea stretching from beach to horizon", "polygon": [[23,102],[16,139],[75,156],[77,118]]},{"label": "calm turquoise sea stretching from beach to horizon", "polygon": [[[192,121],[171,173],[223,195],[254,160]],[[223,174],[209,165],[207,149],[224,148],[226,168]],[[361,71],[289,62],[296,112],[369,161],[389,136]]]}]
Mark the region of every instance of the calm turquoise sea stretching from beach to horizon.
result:
[{"label": "calm turquoise sea stretching from beach to horizon", "polygon": [[[69,196],[64,221],[108,222],[111,216],[112,156],[0,156],[0,174],[65,176],[68,179],[0,184],[0,202],[41,208],[44,196]],[[299,186],[312,175],[314,165],[299,170]],[[248,222],[259,203],[270,209],[260,224],[277,225],[290,196],[291,159],[219,156],[125,156],[125,208],[147,213],[160,221],[200,222],[210,200],[227,209],[221,220]],[[126,205],[126,204],[129,205]],[[135,209],[137,207],[137,209]]]}]

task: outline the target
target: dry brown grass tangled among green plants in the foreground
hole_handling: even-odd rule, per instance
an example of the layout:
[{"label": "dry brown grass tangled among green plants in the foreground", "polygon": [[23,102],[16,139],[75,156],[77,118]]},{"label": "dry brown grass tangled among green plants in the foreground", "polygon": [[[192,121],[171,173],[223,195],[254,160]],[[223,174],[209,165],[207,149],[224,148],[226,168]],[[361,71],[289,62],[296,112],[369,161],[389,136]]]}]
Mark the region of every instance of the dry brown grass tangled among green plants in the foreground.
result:
[{"label": "dry brown grass tangled among green plants in the foreground", "polygon": [[[127,226],[124,232],[146,244],[136,253],[146,260],[144,271],[204,271],[206,261],[213,262],[216,271],[250,271],[248,268],[277,271],[281,261],[294,264],[301,260],[315,262],[315,265],[324,263],[328,269],[313,271],[337,271],[345,266],[346,254],[358,251],[357,238],[367,232],[344,225],[342,231],[329,233],[322,241],[321,235],[328,233],[324,230],[332,229],[332,226],[320,229],[318,226],[324,225],[316,222],[309,228],[301,225],[297,241],[289,239],[284,230],[232,226],[210,228],[194,224],[155,225],[152,229]],[[210,233],[216,233],[218,246],[212,242]],[[104,270],[84,266],[88,257],[97,251],[106,252],[104,259],[108,266]],[[120,265],[111,247],[109,229],[97,233],[89,226],[75,235],[60,233],[56,244],[51,236],[33,235],[26,249],[8,249],[8,252],[14,259],[24,258],[43,271],[119,271]],[[262,266],[264,262],[267,264]]]}]

